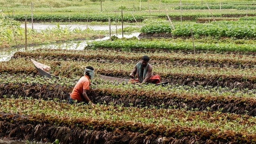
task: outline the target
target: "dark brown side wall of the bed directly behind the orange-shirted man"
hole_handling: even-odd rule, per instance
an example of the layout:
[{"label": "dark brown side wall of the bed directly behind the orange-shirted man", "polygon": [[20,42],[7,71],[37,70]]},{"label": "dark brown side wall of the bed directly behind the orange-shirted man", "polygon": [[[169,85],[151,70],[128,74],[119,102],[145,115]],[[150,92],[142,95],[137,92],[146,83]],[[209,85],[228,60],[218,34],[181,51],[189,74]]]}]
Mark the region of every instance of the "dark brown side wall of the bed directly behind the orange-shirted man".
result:
[{"label": "dark brown side wall of the bed directly behind the orange-shirted man", "polygon": [[[45,99],[45,100],[54,100],[59,99],[66,100],[68,102],[69,93],[72,91],[72,87],[65,87],[60,85],[46,85],[46,84],[19,84],[19,83],[9,83],[9,84],[0,84],[0,97],[9,96],[13,97],[32,97],[35,99]],[[227,89],[228,91],[228,89]],[[130,94],[132,93],[132,94]],[[133,106],[137,107],[150,107],[156,106],[159,107],[163,105],[164,108],[169,108],[170,106],[176,106],[177,108],[187,108],[187,109],[198,109],[198,110],[209,110],[217,111],[222,109],[222,112],[236,113],[236,114],[247,114],[249,116],[256,116],[256,100],[254,98],[245,98],[240,97],[235,100],[232,98],[223,98],[207,96],[200,97],[195,96],[176,96],[169,95],[166,96],[166,93],[161,93],[155,95],[155,97],[145,97],[140,96],[140,93],[126,92],[126,95],[122,96],[124,93],[120,93],[115,89],[90,89],[88,91],[89,98],[94,103],[100,104],[123,104],[126,107],[130,107],[131,103]],[[184,99],[184,97],[187,97]],[[192,98],[190,100],[190,97]],[[223,101],[225,99],[225,101]]]}]

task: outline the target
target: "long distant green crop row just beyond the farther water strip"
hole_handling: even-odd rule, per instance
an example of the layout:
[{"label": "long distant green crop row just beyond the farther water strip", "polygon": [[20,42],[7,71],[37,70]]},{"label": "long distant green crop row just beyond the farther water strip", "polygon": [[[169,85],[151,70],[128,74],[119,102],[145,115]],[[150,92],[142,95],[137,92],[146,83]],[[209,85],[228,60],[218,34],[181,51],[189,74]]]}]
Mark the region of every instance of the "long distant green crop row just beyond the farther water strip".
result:
[{"label": "long distant green crop row just beyond the farther water strip", "polygon": [[[184,7],[185,8],[185,7]],[[129,10],[123,10],[123,21],[126,22],[135,22],[133,16],[135,17],[136,21],[144,21],[145,18],[149,16],[154,16],[158,18],[167,18],[166,16],[166,11],[162,11],[159,13],[159,11],[152,11],[151,14],[149,14],[147,11],[133,11],[133,16],[129,12]],[[87,19],[88,21],[108,21],[109,18],[112,21],[115,21],[116,19],[118,21],[121,21],[121,12],[118,10],[118,14],[116,15],[117,11],[115,12],[105,12],[105,13],[60,13],[56,12],[54,14],[49,14],[49,13],[42,13],[42,12],[35,12],[33,14],[33,21],[83,21],[86,22]],[[246,10],[228,10],[228,9],[222,9],[221,11],[219,9],[213,9],[212,14],[215,17],[242,17],[242,16],[255,16],[255,11],[254,8],[252,10],[246,9]],[[179,10],[168,10],[167,14],[170,16],[171,19],[174,20],[180,20],[180,9]],[[201,18],[201,17],[212,17],[212,14],[209,13],[208,9],[203,9],[203,10],[194,10],[194,9],[187,9],[182,11],[182,19],[183,20],[193,20],[196,18]],[[12,16],[14,20],[17,21],[25,21],[26,20],[26,15],[27,15],[27,21],[31,21],[31,13],[16,13]]]}]

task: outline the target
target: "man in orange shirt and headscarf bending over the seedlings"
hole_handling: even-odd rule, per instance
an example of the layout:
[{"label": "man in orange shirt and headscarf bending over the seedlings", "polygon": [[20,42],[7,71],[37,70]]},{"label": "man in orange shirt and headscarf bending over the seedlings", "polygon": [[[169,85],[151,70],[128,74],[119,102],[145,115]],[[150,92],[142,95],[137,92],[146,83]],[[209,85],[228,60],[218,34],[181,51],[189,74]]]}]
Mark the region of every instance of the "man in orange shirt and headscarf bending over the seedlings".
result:
[{"label": "man in orange shirt and headscarf bending over the seedlings", "polygon": [[73,104],[75,101],[78,103],[80,102],[87,102],[92,105],[95,105],[92,103],[87,96],[87,90],[90,89],[90,80],[93,79],[94,75],[94,69],[91,66],[88,66],[84,69],[84,76],[79,79],[79,81],[76,83],[72,93],[69,96],[69,103]]}]

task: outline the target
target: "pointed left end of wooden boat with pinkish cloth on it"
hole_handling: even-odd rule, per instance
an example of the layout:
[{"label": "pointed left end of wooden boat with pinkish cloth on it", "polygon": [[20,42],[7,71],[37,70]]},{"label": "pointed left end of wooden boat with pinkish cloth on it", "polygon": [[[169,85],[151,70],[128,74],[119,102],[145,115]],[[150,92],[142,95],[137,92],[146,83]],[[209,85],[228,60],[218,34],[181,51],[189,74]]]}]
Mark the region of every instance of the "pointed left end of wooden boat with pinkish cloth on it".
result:
[{"label": "pointed left end of wooden boat with pinkish cloth on it", "polygon": [[35,68],[36,68],[36,70],[39,72],[40,75],[46,76],[46,77],[48,77],[48,78],[57,78],[57,79],[59,79],[58,76],[55,76],[55,75],[52,75],[52,74],[49,73],[49,70],[51,69],[50,66],[45,65],[45,64],[42,64],[42,63],[40,63],[40,62],[36,62],[36,61],[33,60],[33,59],[30,59],[30,60],[31,60],[31,61],[33,62],[33,64],[35,65]]}]

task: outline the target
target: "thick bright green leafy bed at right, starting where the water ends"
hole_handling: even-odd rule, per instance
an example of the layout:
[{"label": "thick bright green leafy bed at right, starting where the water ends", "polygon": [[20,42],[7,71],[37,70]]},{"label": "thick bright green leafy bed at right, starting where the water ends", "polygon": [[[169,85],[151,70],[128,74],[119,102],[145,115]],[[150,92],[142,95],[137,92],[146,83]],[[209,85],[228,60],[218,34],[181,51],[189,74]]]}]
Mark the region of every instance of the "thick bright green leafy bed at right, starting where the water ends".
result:
[{"label": "thick bright green leafy bed at right, starting where the water ends", "polygon": [[[242,26],[241,26],[242,25]],[[235,39],[254,39],[256,37],[256,27],[254,21],[216,21],[211,23],[179,24],[174,25],[145,25],[141,28],[142,33],[171,33],[174,37],[191,36],[193,30],[194,37],[211,36],[214,38],[230,37]]]}]

